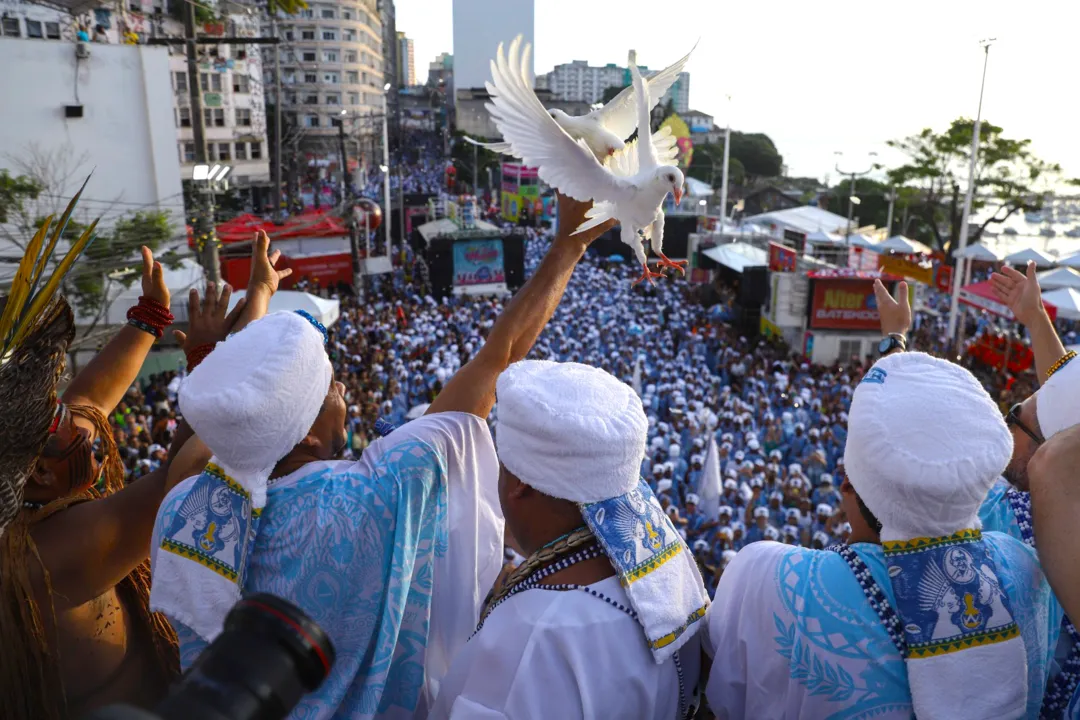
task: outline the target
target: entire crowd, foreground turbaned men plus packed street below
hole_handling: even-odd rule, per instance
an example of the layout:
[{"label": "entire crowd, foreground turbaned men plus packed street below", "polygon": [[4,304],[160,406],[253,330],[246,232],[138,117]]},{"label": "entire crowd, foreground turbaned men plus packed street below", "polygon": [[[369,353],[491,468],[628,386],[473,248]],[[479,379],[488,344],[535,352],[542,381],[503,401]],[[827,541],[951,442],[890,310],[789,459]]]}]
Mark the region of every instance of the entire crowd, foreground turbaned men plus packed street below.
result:
[{"label": "entire crowd, foreground turbaned men plus packed street below", "polygon": [[1080,364],[1034,269],[990,279],[1029,379],[910,352],[945,352],[943,300],[913,316],[903,283],[883,356],[823,367],[557,212],[512,298],[432,297],[409,258],[329,328],[267,313],[261,235],[244,301],[192,293],[187,366],[144,382],[173,321],[148,250],[63,393],[62,300],[0,334],[13,717],[152,705],[253,592],[334,642],[295,717],[1080,712]]}]

